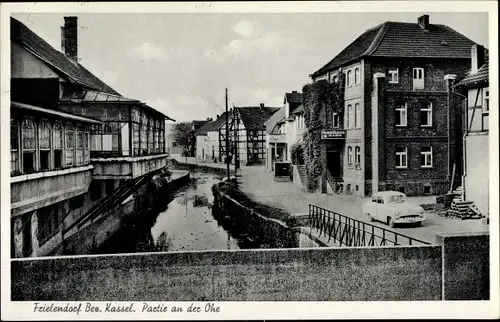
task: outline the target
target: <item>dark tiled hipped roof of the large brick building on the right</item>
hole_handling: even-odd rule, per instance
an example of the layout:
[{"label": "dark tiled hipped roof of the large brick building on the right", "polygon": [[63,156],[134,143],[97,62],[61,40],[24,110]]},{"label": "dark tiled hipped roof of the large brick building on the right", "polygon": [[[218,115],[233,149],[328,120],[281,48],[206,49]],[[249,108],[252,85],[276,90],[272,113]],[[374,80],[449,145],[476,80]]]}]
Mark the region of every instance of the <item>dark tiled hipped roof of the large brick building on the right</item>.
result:
[{"label": "dark tiled hipped roof of the large brick building on the right", "polygon": [[365,31],[328,64],[313,73],[318,76],[365,56],[470,58],[474,42],[452,28],[430,24],[388,21]]}]

